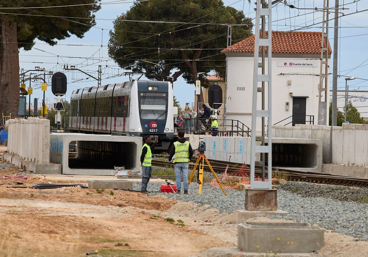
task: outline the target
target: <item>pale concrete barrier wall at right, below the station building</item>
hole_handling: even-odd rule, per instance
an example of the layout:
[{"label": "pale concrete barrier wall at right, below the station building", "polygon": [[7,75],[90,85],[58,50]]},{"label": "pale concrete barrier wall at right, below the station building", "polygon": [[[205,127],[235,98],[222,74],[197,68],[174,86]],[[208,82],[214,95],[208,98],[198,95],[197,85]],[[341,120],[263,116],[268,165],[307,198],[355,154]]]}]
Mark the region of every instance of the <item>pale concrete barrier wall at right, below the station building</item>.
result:
[{"label": "pale concrete barrier wall at right, below the station building", "polygon": [[272,126],[273,137],[322,140],[323,163],[368,166],[368,124]]}]

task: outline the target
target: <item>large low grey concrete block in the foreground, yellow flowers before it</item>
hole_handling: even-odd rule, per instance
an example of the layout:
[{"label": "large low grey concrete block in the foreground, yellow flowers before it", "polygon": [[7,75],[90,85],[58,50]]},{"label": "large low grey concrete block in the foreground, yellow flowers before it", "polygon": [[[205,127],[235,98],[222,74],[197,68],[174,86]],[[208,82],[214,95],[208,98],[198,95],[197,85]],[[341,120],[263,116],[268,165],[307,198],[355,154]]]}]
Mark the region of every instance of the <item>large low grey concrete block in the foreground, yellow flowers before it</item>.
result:
[{"label": "large low grey concrete block in the foreground, yellow flowers before it", "polygon": [[238,248],[246,252],[310,253],[324,244],[324,231],[307,223],[238,224]]}]

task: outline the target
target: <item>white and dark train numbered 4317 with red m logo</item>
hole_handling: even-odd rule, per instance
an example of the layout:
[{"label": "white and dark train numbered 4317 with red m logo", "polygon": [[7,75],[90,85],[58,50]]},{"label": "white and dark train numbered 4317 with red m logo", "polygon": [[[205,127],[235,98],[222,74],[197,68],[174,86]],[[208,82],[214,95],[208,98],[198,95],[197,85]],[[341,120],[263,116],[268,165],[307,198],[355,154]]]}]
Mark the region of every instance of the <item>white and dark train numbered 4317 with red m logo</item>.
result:
[{"label": "white and dark train numbered 4317 with red m logo", "polygon": [[135,80],[74,90],[71,132],[159,137],[167,150],[174,138],[174,100],[170,82]]}]

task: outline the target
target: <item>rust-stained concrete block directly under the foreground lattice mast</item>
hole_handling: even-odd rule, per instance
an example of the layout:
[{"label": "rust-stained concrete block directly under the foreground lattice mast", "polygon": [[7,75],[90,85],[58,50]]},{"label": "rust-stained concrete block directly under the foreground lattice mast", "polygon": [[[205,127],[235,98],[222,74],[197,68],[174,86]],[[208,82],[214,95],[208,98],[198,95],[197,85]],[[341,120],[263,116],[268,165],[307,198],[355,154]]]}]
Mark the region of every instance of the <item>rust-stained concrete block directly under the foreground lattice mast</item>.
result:
[{"label": "rust-stained concrete block directly under the foreground lattice mast", "polygon": [[245,210],[276,211],[276,189],[245,189]]}]

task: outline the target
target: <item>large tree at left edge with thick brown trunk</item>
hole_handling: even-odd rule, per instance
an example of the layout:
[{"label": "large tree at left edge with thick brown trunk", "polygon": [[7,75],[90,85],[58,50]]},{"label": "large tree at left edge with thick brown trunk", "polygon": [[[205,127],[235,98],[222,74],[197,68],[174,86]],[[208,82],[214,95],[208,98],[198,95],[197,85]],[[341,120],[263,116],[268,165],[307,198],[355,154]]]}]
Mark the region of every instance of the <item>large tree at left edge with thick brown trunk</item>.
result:
[{"label": "large tree at left edge with thick brown trunk", "polygon": [[[18,48],[31,50],[35,39],[55,45],[56,40],[63,40],[71,35],[82,38],[96,24],[93,12],[101,8],[99,1],[1,1],[1,12],[5,14],[0,14],[0,113],[18,113]],[[18,8],[3,9],[14,7]]]}]

